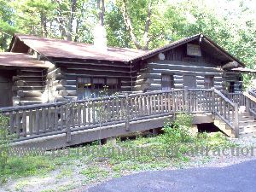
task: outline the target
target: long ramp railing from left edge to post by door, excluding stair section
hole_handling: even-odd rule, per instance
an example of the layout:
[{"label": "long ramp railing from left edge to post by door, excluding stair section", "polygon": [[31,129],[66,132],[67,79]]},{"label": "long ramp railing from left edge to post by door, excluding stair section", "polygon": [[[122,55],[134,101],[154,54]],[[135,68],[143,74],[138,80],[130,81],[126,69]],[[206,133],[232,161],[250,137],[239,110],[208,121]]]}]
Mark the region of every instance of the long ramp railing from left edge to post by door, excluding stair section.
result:
[{"label": "long ramp railing from left edge to post by door, excluding stair section", "polygon": [[184,111],[183,90],[108,96],[76,102],[57,102],[1,108],[17,141],[125,123]]}]

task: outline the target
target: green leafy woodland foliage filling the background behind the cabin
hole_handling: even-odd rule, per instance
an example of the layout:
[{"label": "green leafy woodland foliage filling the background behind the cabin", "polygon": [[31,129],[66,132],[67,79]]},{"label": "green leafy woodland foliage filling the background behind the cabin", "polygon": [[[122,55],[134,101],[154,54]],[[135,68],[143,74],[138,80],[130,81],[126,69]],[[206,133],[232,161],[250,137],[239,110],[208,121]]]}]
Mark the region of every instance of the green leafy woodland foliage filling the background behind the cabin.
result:
[{"label": "green leafy woodland foliage filling the background behind the cabin", "polygon": [[[122,3],[122,0],[105,0],[108,45],[135,48],[125,26]],[[255,67],[256,13],[250,0],[212,0],[211,3],[209,0],[189,3],[126,0],[126,3],[137,41],[144,44],[149,39],[148,49],[202,32],[247,67]],[[145,33],[149,7],[150,26]],[[7,50],[14,32],[92,43],[98,10],[94,0],[0,0],[0,18],[0,49]],[[250,86],[253,77],[245,75],[244,79]]]}]

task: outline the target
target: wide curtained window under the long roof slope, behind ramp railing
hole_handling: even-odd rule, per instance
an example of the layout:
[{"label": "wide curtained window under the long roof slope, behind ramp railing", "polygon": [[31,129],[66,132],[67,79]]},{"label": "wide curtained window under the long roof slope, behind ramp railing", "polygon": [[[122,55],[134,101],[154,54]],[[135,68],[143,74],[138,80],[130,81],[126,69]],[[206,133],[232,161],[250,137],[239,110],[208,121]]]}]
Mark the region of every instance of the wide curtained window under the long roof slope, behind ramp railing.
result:
[{"label": "wide curtained window under the long roof slope, behind ramp railing", "polygon": [[[104,90],[104,91],[103,91]],[[106,92],[105,92],[106,90]],[[119,90],[119,80],[114,78],[78,78],[78,99],[113,95]]]}]

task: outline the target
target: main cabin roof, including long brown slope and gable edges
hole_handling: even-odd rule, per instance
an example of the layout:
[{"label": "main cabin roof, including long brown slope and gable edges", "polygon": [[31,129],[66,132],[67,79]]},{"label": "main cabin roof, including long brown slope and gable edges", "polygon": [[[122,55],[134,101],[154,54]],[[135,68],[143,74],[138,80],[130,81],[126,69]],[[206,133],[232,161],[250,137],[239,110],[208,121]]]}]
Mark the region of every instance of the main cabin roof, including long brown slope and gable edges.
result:
[{"label": "main cabin roof, including long brown slope and gable edges", "polygon": [[[172,44],[166,44],[159,49],[154,49],[150,51],[138,50],[138,49],[128,49],[128,48],[113,48],[108,47],[106,51],[102,51],[100,49],[96,49],[93,44],[82,44],[76,43],[72,41],[59,40],[53,38],[38,38],[35,36],[29,35],[21,35],[15,34],[12,47],[24,49],[22,43],[15,44],[15,38],[18,38],[19,41],[23,42],[28,47],[38,51],[38,53],[46,56],[46,57],[54,57],[54,58],[71,58],[71,59],[91,59],[91,60],[105,60],[105,61],[137,61],[147,59],[154,55],[159,54],[160,52],[164,52],[168,49],[173,49],[182,44],[187,44],[195,39],[201,39],[202,42],[207,44],[207,46],[212,47],[214,52],[217,52],[218,55],[222,55],[225,59],[229,61],[237,61],[241,64],[241,66],[245,66],[244,63],[239,61],[233,55],[230,55],[223,48],[215,44],[210,38],[207,38],[203,34],[196,34],[194,36],[190,36],[188,38],[183,38],[173,42]],[[20,48],[18,48],[20,49]],[[20,51],[14,51],[20,52]],[[27,52],[27,49],[24,53]]]}]

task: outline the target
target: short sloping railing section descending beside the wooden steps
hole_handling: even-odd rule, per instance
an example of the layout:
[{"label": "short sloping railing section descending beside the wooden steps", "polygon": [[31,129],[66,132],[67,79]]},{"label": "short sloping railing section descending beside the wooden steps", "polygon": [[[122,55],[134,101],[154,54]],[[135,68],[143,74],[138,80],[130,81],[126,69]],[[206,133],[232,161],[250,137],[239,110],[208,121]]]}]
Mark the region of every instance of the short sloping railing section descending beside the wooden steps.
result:
[{"label": "short sloping railing section descending beside the wooden steps", "polygon": [[213,112],[218,115],[226,124],[235,131],[235,136],[239,136],[239,115],[238,103],[231,102],[223,93],[214,90],[213,98]]}]

